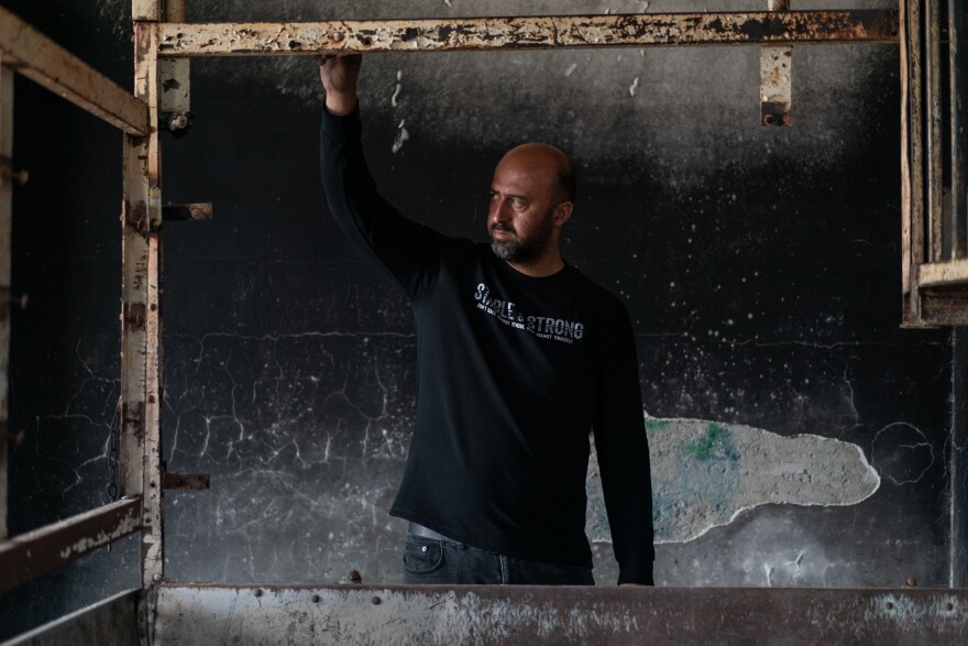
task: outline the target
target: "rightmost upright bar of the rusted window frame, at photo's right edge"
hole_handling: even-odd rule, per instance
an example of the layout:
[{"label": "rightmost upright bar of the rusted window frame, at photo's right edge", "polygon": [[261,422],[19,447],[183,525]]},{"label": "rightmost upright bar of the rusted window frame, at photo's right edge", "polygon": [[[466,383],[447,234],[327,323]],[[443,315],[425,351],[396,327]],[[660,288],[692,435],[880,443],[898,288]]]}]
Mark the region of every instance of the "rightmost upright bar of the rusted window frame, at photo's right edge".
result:
[{"label": "rightmost upright bar of the rusted window frame, at photo's right edge", "polygon": [[966,225],[968,225],[968,200],[965,186],[965,32],[964,0],[948,0],[948,61],[950,78],[950,129],[952,129],[952,209],[946,236],[948,249],[945,260],[964,258],[966,252]]}]

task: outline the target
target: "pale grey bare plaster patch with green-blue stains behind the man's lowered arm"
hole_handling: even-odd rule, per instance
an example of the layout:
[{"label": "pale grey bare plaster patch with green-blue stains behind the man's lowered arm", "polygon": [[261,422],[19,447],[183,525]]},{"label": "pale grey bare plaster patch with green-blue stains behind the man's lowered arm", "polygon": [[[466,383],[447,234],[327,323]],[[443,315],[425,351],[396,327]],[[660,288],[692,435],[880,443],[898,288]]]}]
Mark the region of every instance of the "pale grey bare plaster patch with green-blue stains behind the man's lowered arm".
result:
[{"label": "pale grey bare plaster patch with green-blue stains behind the man's lowered arm", "polygon": [[[768,503],[854,505],[880,486],[860,448],[840,440],[703,419],[646,418],[646,428],[656,543],[693,540]],[[596,457],[587,491],[588,538],[608,543]]]}]

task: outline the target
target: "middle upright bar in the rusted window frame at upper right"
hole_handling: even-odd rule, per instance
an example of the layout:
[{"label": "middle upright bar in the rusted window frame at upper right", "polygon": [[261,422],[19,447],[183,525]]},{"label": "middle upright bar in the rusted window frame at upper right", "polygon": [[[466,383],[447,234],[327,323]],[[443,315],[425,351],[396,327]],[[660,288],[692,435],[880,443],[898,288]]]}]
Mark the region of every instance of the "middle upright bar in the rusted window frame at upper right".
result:
[{"label": "middle upright bar in the rusted window frame at upper right", "polygon": [[927,110],[924,141],[927,210],[927,249],[915,262],[941,262],[944,255],[944,167],[942,163],[941,0],[924,1],[924,102]]}]

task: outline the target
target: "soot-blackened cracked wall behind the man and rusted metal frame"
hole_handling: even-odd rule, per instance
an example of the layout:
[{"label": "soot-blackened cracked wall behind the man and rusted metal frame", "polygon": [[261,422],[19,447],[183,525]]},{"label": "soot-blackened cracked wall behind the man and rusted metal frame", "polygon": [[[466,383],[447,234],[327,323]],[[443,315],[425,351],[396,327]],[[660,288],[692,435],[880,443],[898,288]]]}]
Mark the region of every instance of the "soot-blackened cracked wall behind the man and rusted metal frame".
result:
[{"label": "soot-blackened cracked wall behind the man and rusted metal frame", "polygon": [[[130,9],[6,6],[123,87]],[[763,9],[571,3],[569,13]],[[843,3],[887,7],[887,3]],[[829,6],[825,8],[831,8]],[[801,9],[798,7],[798,9]],[[209,2],[193,21],[562,13],[493,1]],[[793,127],[759,122],[759,50],[374,55],[364,146],[382,193],[484,238],[494,164],[547,141],[580,175],[566,260],[625,300],[653,448],[661,585],[949,582],[946,331],[900,322],[895,45],[796,46]],[[107,501],[119,395],[121,139],[18,79],[13,533]],[[400,582],[386,512],[415,412],[407,303],[346,244],[318,179],[315,62],[193,63],[165,136],[164,456],[174,581]],[[960,395],[959,395],[960,396]],[[590,473],[596,580],[616,577]],[[3,598],[13,634],[136,585],[133,540]],[[43,600],[43,602],[42,602]],[[2,636],[2,635],[0,635]]]}]

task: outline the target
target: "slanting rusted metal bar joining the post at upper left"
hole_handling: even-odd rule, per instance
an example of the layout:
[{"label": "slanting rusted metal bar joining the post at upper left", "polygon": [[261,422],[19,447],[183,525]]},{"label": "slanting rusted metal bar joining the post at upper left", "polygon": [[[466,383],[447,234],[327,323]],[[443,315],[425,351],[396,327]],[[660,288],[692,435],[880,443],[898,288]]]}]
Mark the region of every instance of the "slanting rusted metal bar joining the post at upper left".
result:
[{"label": "slanting rusted metal bar joining the post at upper left", "polygon": [[147,133],[147,110],[131,92],[0,7],[0,52],[7,65],[130,134]]}]

